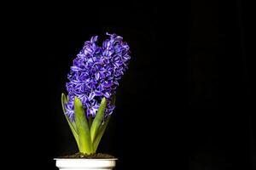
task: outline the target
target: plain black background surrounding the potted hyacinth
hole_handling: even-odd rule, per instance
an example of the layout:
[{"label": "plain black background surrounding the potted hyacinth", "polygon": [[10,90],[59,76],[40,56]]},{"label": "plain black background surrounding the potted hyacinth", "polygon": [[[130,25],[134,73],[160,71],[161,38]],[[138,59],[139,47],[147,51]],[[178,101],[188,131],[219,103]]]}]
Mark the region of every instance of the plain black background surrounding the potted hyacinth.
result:
[{"label": "plain black background surrounding the potted hyacinth", "polygon": [[61,93],[84,41],[108,31],[132,57],[98,150],[118,157],[117,169],[255,168],[247,3],[22,5],[3,14],[2,78],[13,122],[4,141],[23,167],[56,169],[54,157],[78,151]]}]

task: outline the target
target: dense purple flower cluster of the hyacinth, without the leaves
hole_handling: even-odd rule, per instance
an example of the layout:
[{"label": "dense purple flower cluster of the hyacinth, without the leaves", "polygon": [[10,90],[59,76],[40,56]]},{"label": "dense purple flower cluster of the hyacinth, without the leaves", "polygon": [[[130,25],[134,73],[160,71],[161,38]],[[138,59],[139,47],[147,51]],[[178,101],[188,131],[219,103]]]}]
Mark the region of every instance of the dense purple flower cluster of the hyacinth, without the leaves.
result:
[{"label": "dense purple flower cluster of the hyacinth, without the leaves", "polygon": [[73,59],[73,66],[68,74],[67,92],[69,101],[65,105],[67,116],[74,120],[74,96],[77,96],[84,106],[87,117],[95,117],[103,97],[107,99],[105,116],[113,112],[112,97],[119,86],[119,79],[124,75],[129,63],[130,51],[123,38],[115,34],[108,34],[99,47],[97,36],[84,42],[84,48],[77,58]]}]

